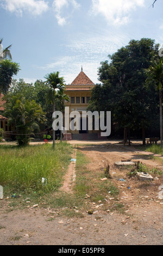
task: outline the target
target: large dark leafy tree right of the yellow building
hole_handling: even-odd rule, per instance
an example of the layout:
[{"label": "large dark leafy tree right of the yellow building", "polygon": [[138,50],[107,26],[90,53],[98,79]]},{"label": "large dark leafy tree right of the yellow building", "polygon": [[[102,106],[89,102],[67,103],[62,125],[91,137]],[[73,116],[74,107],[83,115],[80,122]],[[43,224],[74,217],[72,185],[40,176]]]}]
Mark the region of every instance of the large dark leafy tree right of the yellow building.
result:
[{"label": "large dark leafy tree right of the yellow building", "polygon": [[155,102],[155,93],[150,95],[145,86],[146,69],[158,56],[158,47],[152,39],[131,40],[126,47],[109,55],[110,63],[106,60],[98,69],[102,86],[93,88],[90,107],[111,111],[112,121],[125,131],[124,142],[129,129],[144,131],[149,125],[149,109]]}]

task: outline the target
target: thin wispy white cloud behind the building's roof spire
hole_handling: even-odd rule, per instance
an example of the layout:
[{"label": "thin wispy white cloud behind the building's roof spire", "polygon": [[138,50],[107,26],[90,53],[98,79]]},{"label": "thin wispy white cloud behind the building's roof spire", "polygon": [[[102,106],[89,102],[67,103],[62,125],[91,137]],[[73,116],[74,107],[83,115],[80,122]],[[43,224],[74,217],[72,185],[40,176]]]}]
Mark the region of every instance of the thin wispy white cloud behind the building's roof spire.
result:
[{"label": "thin wispy white cloud behind the building's roof spire", "polygon": [[83,65],[83,71],[94,83],[98,83],[97,72],[100,62],[108,59],[108,54],[112,54],[127,45],[128,35],[120,32],[118,35],[114,31],[107,35],[106,31],[95,34],[76,33],[76,38],[66,38],[62,47],[66,48],[68,56],[55,56],[54,61],[46,63],[44,66],[34,66],[34,68],[46,72],[60,71],[66,83],[71,83],[79,74]]}]

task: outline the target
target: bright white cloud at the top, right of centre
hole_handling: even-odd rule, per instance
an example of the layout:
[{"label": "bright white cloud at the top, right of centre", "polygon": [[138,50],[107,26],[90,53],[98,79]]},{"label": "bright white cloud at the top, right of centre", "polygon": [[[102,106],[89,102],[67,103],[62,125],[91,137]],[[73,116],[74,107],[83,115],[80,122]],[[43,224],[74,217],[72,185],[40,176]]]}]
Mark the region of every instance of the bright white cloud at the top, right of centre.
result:
[{"label": "bright white cloud at the top, right of centre", "polygon": [[145,0],[92,0],[92,14],[102,14],[108,22],[123,25],[129,22],[131,11],[143,7]]}]

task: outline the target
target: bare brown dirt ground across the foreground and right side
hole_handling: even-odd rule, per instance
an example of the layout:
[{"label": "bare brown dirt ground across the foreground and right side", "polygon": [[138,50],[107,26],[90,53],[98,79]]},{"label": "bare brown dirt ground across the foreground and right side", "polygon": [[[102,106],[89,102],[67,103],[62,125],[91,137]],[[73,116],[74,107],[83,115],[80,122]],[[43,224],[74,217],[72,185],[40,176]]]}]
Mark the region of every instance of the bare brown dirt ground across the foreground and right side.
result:
[{"label": "bare brown dirt ground across the foreground and right side", "polygon": [[[7,212],[2,200],[0,245],[162,245],[163,199],[159,199],[162,176],[146,186],[145,182],[127,178],[115,162],[130,159],[162,169],[161,164],[134,148],[114,143],[79,143],[72,142],[89,157],[88,167],[92,171],[103,167],[105,160],[109,162],[112,180],[120,189],[120,203],[127,209],[125,214],[99,209],[92,215],[83,212],[83,218],[56,216],[53,221],[47,221],[53,209],[35,207]],[[70,196],[74,166],[72,161],[62,187]]]}]

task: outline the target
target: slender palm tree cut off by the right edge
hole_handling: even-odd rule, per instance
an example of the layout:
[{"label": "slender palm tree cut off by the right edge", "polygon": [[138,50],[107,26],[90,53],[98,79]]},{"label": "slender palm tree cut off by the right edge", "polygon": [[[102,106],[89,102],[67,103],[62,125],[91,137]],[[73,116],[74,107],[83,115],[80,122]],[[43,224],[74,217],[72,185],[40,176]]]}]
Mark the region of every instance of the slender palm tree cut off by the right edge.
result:
[{"label": "slender palm tree cut off by the right edge", "polygon": [[154,62],[154,65],[147,69],[146,84],[148,87],[154,86],[159,91],[159,106],[160,106],[160,141],[162,148],[162,81],[163,81],[163,58],[159,63]]}]

